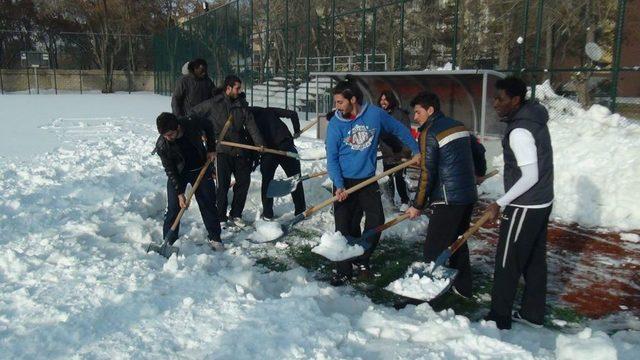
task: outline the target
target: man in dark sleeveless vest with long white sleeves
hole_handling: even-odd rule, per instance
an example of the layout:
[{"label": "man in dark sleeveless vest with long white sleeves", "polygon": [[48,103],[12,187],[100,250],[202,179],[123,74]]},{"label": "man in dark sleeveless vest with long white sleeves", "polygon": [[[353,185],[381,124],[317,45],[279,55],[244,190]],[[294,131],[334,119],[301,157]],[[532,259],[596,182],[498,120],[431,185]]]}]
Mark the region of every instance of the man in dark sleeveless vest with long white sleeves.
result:
[{"label": "man in dark sleeveless vest with long white sleeves", "polygon": [[[493,106],[507,123],[504,151],[505,194],[487,209],[500,221],[491,310],[487,320],[499,329],[511,321],[542,327],[547,291],[547,225],[553,203],[553,150],[549,114],[535,100],[525,101],[527,86],[519,78],[496,82]],[[519,311],[511,312],[518,281],[524,277]]]}]

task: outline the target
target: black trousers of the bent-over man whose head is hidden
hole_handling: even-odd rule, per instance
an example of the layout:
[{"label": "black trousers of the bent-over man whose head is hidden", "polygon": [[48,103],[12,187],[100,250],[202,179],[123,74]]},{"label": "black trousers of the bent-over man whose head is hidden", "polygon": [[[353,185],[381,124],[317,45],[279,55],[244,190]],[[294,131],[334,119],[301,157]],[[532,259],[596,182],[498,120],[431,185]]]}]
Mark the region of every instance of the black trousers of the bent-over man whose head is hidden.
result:
[{"label": "black trousers of the bent-over man whose head is hidden", "polygon": [[[284,149],[284,151],[298,152],[295,147],[292,149]],[[273,180],[278,166],[282,167],[287,176],[300,174],[301,171],[299,160],[275,154],[262,155],[260,162],[260,172],[262,173],[262,215],[267,218],[273,218],[273,199],[267,197],[267,189],[269,188],[269,183]],[[307,205],[304,200],[302,182],[299,182],[296,189],[291,193],[291,198],[293,199],[296,215],[306,210]]]}]

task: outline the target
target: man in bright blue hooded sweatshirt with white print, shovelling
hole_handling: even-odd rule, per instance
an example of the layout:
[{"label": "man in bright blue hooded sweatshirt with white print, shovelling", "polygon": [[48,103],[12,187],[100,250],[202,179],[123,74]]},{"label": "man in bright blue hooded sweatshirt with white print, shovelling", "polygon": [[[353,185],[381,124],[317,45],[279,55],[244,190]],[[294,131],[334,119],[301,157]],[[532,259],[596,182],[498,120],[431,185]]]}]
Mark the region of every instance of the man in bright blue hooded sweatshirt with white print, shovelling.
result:
[{"label": "man in bright blue hooded sweatshirt with white print, shovelling", "polygon": [[[419,159],[420,149],[409,130],[377,106],[363,104],[362,91],[352,81],[341,81],[333,89],[336,112],[327,128],[325,142],[327,169],[338,197],[334,203],[336,231],[353,237],[361,236],[360,220],[365,215],[365,231],[384,223],[380,188],[374,182],[347,194],[345,191],[375,176],[378,141],[381,133],[389,133],[400,139]],[[372,246],[353,263],[363,278],[371,276],[369,258],[380,234],[367,239]],[[337,264],[337,274],[331,285],[343,285],[352,275],[352,261]]]}]

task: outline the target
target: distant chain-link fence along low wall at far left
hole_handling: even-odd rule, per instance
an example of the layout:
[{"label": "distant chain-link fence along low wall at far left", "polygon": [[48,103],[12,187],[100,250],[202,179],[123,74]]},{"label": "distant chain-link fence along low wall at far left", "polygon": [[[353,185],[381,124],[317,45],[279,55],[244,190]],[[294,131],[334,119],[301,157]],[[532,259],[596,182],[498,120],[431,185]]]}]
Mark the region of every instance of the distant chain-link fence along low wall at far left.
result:
[{"label": "distant chain-link fence along low wall at far left", "polygon": [[0,31],[0,91],[153,91],[151,35]]}]

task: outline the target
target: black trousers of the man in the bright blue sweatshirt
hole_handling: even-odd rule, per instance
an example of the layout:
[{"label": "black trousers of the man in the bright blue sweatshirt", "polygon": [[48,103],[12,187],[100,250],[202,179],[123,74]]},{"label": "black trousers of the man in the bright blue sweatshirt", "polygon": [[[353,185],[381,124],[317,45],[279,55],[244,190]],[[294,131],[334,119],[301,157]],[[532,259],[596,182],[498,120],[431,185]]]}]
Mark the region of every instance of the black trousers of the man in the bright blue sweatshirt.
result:
[{"label": "black trousers of the man in the bright blue sweatshirt", "polygon": [[[367,179],[344,179],[345,187],[348,189]],[[335,187],[333,189],[335,193]],[[384,211],[382,209],[382,200],[380,199],[380,187],[377,182],[367,185],[364,188],[350,194],[343,202],[333,203],[333,216],[336,224],[336,231],[340,231],[343,235],[360,237],[362,230],[360,229],[360,221],[365,216],[364,230],[375,228],[384,224]],[[371,243],[371,247],[365,253],[354,261],[339,261],[336,264],[338,274],[352,275],[351,264],[358,263],[369,265],[371,254],[375,250],[380,241],[380,234],[367,239]]]}]

